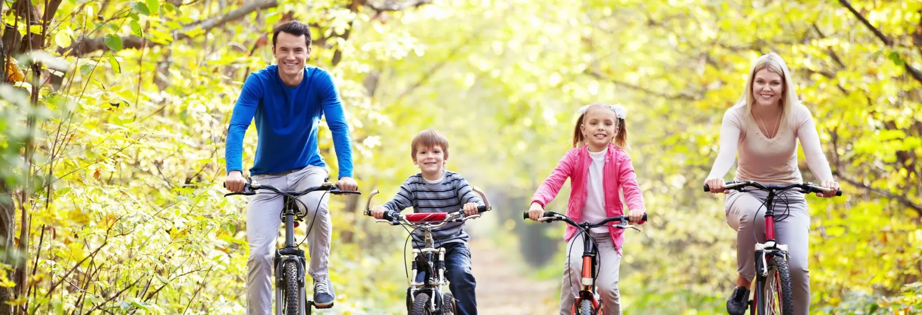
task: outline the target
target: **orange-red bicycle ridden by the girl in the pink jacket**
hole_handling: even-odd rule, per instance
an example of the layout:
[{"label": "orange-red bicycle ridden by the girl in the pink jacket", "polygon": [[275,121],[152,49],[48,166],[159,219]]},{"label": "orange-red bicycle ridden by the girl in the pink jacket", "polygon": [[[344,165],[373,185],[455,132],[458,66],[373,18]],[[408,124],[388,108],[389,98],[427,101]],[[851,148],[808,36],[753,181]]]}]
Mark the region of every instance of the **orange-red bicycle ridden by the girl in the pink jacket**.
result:
[{"label": "orange-red bicycle ridden by the girl in the pink jacket", "polygon": [[[528,219],[528,212],[523,213],[524,218]],[[573,227],[576,227],[583,235],[583,272],[582,272],[582,281],[580,282],[581,288],[579,293],[573,297],[573,309],[570,313],[573,315],[594,315],[601,314],[603,305],[602,298],[599,297],[596,291],[596,278],[597,273],[597,256],[598,249],[596,248],[596,241],[589,237],[589,229],[593,227],[605,227],[608,226],[610,222],[620,221],[620,224],[609,226],[617,228],[633,228],[638,232],[641,231],[640,227],[628,225],[630,221],[629,216],[609,216],[598,222],[583,222],[576,223],[569,216],[564,216],[553,211],[547,211],[538,218],[538,222],[550,222],[550,221],[563,221],[570,224]],[[646,221],[646,214],[641,221]],[[570,255],[567,255],[569,257]],[[568,263],[569,264],[569,263]]]}]

